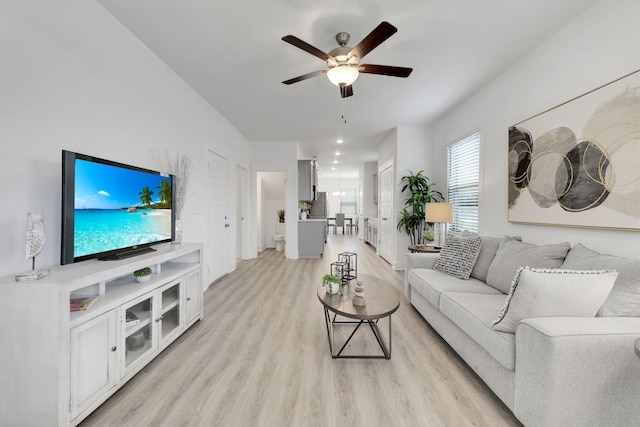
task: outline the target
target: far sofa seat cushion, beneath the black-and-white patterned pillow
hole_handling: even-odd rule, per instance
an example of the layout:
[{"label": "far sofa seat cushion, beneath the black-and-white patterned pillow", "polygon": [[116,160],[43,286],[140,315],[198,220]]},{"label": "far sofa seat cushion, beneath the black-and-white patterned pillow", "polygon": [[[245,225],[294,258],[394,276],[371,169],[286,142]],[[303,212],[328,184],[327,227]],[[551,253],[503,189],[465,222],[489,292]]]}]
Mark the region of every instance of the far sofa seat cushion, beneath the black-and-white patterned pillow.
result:
[{"label": "far sofa seat cushion, beneath the black-and-white patterned pillow", "polygon": [[[501,295],[504,303],[505,295],[503,293],[479,280],[460,280],[430,268],[412,268],[407,274],[407,281],[415,292],[420,293],[436,308],[440,307],[440,294],[442,292],[473,292]],[[495,317],[495,313],[493,315]]]}]

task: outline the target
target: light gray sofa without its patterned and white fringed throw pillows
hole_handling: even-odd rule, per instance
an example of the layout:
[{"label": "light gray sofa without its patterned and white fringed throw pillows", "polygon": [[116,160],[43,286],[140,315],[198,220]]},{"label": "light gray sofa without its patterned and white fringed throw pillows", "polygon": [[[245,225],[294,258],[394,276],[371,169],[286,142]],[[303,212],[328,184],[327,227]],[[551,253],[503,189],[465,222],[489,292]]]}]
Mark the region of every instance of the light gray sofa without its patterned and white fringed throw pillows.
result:
[{"label": "light gray sofa without its patterned and white fringed throw pillows", "polygon": [[[481,237],[467,280],[434,270],[438,254],[407,254],[405,293],[415,309],[526,426],[640,425],[640,261],[580,244]],[[618,277],[596,317],[527,318],[515,333],[498,332],[505,282],[524,265]]]}]

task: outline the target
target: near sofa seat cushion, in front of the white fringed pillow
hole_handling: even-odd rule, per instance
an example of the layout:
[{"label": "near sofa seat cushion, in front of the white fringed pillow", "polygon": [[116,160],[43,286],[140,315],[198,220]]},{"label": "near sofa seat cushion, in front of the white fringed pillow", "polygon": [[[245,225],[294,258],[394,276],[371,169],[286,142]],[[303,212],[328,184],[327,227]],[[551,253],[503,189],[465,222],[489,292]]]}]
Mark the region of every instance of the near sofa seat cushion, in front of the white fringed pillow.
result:
[{"label": "near sofa seat cushion, in front of the white fringed pillow", "polygon": [[515,369],[514,334],[491,328],[496,310],[504,305],[503,294],[445,292],[440,297],[440,311],[462,329],[507,369]]}]

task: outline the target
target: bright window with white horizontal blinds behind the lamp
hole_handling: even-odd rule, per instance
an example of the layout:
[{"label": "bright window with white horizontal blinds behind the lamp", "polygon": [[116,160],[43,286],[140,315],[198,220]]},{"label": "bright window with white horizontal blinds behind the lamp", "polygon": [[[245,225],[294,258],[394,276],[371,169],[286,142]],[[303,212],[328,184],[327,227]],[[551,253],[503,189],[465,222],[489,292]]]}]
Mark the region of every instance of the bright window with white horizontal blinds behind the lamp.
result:
[{"label": "bright window with white horizontal blinds behind the lamp", "polygon": [[480,133],[462,138],[447,148],[447,201],[453,203],[449,230],[478,232],[480,197]]}]

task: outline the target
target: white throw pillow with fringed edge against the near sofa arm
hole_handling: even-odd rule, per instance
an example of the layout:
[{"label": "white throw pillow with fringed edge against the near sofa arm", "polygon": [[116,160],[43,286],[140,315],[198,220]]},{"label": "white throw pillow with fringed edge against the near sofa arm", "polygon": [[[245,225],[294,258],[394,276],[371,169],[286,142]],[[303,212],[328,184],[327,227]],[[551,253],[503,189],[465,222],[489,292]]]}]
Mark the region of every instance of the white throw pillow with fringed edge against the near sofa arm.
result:
[{"label": "white throw pillow with fringed edge against the near sofa arm", "polygon": [[594,317],[617,276],[610,270],[519,268],[493,329],[515,333],[518,323],[531,317]]}]

